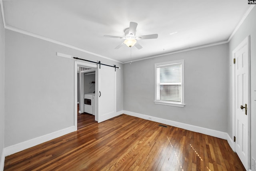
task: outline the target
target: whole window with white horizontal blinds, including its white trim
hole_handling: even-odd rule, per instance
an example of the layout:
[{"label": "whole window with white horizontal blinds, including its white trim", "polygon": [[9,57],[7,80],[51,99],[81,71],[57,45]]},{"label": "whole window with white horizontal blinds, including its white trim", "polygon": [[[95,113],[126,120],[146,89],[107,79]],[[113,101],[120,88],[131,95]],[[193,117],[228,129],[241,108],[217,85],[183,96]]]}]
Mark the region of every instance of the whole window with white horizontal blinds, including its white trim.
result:
[{"label": "whole window with white horizontal blinds, including its white trim", "polygon": [[155,64],[154,102],[184,107],[184,60]]}]

